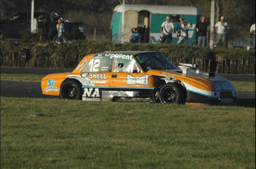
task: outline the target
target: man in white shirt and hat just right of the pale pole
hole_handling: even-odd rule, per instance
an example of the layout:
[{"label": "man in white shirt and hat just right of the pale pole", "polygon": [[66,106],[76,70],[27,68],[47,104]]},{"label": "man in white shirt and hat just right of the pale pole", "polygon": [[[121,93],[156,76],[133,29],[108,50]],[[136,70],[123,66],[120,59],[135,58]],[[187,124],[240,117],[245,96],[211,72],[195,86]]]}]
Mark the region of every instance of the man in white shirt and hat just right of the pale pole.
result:
[{"label": "man in white shirt and hat just right of the pale pole", "polygon": [[214,26],[217,28],[217,34],[218,34],[218,39],[217,39],[217,45],[220,45],[220,41],[225,43],[225,46],[228,48],[228,23],[224,21],[224,17],[220,17],[220,21],[217,22]]}]

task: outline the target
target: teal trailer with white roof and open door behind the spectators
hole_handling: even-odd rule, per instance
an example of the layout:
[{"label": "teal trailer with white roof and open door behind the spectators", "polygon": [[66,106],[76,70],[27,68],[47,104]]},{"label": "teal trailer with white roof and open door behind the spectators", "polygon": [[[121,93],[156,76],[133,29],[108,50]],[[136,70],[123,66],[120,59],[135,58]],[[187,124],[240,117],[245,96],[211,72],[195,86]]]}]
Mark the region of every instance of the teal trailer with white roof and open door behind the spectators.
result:
[{"label": "teal trailer with white roof and open door behind the spectators", "polygon": [[[117,5],[111,19],[112,42],[121,42],[123,6]],[[170,16],[176,30],[179,18],[192,22],[188,31],[189,45],[196,39],[196,23],[200,20],[200,10],[192,6],[161,5],[125,5],[124,10],[124,42],[129,42],[131,28],[138,27],[142,34],[140,42],[160,43],[160,28],[166,16]],[[172,42],[177,43],[176,33],[172,34]]]}]

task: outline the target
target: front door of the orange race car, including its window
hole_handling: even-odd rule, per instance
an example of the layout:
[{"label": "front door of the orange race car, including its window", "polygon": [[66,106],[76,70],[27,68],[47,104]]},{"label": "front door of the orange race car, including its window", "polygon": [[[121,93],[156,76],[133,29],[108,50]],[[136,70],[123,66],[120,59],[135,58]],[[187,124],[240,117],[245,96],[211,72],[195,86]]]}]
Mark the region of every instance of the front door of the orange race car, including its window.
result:
[{"label": "front door of the orange race car, including its window", "polygon": [[148,86],[148,75],[144,73],[136,60],[115,58],[109,86],[117,88],[140,88]]}]

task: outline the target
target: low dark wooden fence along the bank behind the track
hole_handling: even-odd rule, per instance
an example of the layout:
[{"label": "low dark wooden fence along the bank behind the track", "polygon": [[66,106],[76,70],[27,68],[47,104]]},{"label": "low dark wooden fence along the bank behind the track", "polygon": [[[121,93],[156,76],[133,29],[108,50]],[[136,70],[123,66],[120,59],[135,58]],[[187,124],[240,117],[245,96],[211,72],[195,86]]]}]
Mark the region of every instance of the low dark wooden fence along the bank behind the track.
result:
[{"label": "low dark wooden fence along the bank behind the track", "polygon": [[[1,51],[1,66],[74,69],[84,55],[54,54],[27,56],[25,52]],[[225,74],[255,74],[255,59],[168,58],[174,65],[195,63],[200,71]]]}]

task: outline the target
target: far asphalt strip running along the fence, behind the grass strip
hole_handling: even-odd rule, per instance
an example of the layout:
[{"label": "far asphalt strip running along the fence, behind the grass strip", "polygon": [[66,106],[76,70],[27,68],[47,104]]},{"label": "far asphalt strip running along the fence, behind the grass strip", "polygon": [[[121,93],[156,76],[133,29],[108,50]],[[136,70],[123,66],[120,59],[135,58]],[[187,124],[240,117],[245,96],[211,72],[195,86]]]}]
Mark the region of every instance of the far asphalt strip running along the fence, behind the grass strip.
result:
[{"label": "far asphalt strip running along the fence, behind the grass strip", "polygon": [[[44,68],[15,68],[15,67],[1,67],[0,70],[1,70],[1,73],[39,74],[39,75],[48,75],[51,73],[63,73],[63,72],[73,71],[73,69],[44,69]],[[220,74],[220,76],[227,78],[229,81],[255,82],[255,75]]]}]

